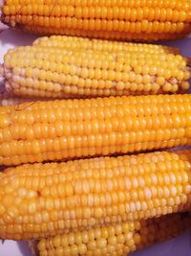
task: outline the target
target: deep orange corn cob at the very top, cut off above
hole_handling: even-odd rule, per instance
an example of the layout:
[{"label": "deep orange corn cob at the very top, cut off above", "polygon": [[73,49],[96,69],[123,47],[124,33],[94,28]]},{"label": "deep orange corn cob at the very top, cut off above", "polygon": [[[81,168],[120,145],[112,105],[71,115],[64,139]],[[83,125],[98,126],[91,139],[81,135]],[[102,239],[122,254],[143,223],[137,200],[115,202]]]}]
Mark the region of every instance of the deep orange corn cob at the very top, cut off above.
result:
[{"label": "deep orange corn cob at the very top, cut off above", "polygon": [[190,0],[5,0],[3,20],[41,34],[172,39],[191,31]]}]

